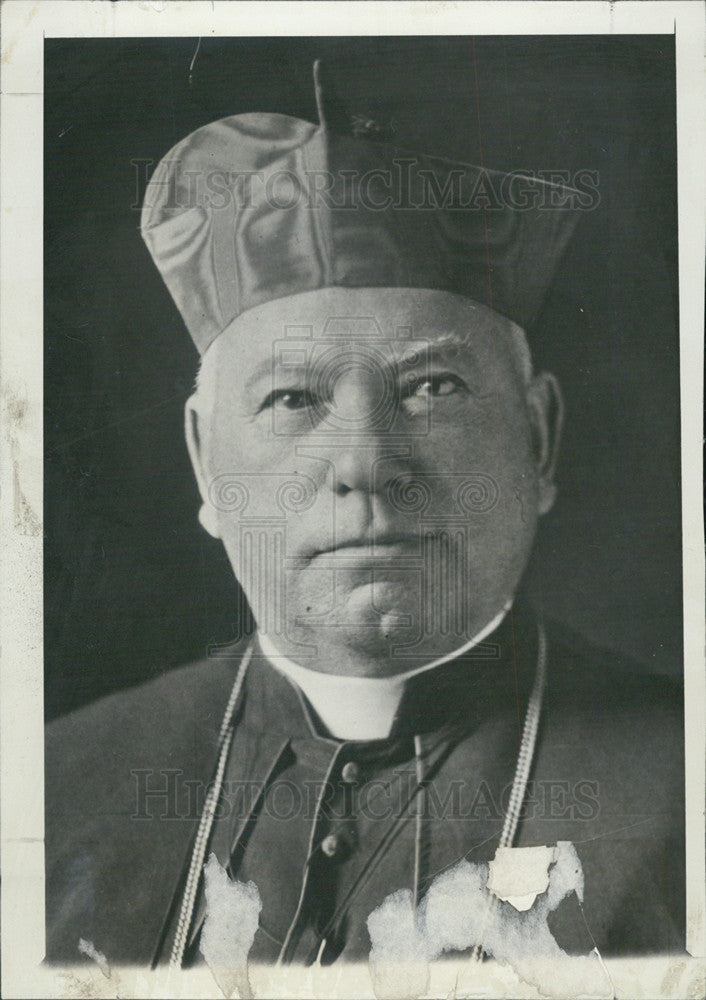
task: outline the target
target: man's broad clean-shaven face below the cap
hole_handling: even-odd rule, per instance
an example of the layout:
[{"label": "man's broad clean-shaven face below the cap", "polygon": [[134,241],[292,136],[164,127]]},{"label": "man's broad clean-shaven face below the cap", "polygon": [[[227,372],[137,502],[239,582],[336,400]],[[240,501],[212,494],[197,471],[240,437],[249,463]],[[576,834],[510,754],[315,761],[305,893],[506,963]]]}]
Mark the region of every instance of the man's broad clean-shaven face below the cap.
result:
[{"label": "man's broad clean-shaven face below the cap", "polygon": [[206,523],[283,652],[395,673],[512,598],[553,448],[511,329],[448,293],[336,288],[212,345],[187,412]]}]

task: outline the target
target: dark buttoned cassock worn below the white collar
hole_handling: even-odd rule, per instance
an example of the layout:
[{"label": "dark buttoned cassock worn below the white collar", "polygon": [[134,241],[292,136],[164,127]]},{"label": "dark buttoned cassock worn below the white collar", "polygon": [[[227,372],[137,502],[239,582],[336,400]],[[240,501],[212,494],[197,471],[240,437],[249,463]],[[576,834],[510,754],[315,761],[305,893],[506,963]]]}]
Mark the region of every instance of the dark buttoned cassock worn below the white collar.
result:
[{"label": "dark buttoned cassock worn below the white collar", "polygon": [[[412,679],[392,735],[317,733],[301,694],[249,664],[209,852],[258,887],[254,961],[366,959],[391,893],[493,858],[537,663],[517,608],[481,646]],[[547,681],[515,846],[571,841],[583,903],[552,915],[569,953],[684,950],[683,695],[547,628]],[[47,958],[169,958],[217,738],[244,646],[53,723],[46,742]],[[510,904],[501,904],[510,905]],[[197,899],[186,961],[200,960]],[[324,943],[325,942],[325,943]]]}]

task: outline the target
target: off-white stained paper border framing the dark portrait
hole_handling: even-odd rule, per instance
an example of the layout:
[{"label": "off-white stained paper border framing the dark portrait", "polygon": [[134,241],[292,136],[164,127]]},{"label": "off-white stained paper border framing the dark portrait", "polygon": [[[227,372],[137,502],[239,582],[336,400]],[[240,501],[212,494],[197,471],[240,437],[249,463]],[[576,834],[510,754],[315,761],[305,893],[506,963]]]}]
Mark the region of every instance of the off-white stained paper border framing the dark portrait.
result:
[{"label": "off-white stained paper border framing the dark portrait", "polygon": [[[43,769],[43,58],[45,38],[272,35],[675,34],[679,198],[679,343],[687,796],[687,950],[605,960],[616,996],[699,996],[706,955],[704,859],[703,347],[706,101],[702,3],[239,2],[5,0],[0,112],[0,384],[3,553],[0,761],[2,994],[6,997],[220,996],[208,968],[180,974],[47,968]],[[80,776],[77,775],[77,780]],[[646,873],[647,874],[647,873]],[[458,966],[435,969],[446,996]],[[454,973],[454,967],[457,971]],[[256,996],[374,996],[367,965],[253,969]],[[526,996],[487,963],[457,996]],[[464,992],[465,990],[465,992]],[[671,992],[668,992],[670,991]],[[695,992],[695,990],[697,992]]]}]

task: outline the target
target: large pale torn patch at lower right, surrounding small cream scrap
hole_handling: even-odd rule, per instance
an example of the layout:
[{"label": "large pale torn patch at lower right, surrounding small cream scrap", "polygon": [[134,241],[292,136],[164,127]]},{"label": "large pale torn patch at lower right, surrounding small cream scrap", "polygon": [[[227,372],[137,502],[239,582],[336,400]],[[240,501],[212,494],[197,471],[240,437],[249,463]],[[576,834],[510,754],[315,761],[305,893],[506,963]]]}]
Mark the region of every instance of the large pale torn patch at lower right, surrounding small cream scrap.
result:
[{"label": "large pale torn patch at lower right, surrounding small cream scrap", "polygon": [[[573,844],[560,841],[555,848],[496,860],[493,884],[500,885],[507,902],[488,891],[489,865],[461,861],[434,879],[416,912],[412,893],[402,890],[370,915],[370,970],[380,1000],[422,996],[430,962],[479,943],[544,996],[613,995],[598,952],[570,957],[547,923],[569,893],[583,901],[583,869]],[[513,897],[524,903],[532,894],[528,908],[512,905]]]}]

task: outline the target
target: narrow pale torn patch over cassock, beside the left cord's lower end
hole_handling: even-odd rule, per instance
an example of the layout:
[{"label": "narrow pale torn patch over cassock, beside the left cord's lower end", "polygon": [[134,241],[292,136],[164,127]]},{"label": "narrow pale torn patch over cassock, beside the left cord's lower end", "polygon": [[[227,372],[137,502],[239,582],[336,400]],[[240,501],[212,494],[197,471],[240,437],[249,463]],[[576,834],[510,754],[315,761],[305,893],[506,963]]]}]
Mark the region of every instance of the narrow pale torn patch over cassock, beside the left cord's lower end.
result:
[{"label": "narrow pale torn patch over cassock, beside the left cord's lower end", "polygon": [[248,955],[262,902],[254,882],[232,882],[215,854],[204,865],[206,917],[199,948],[225,997],[252,997]]}]

